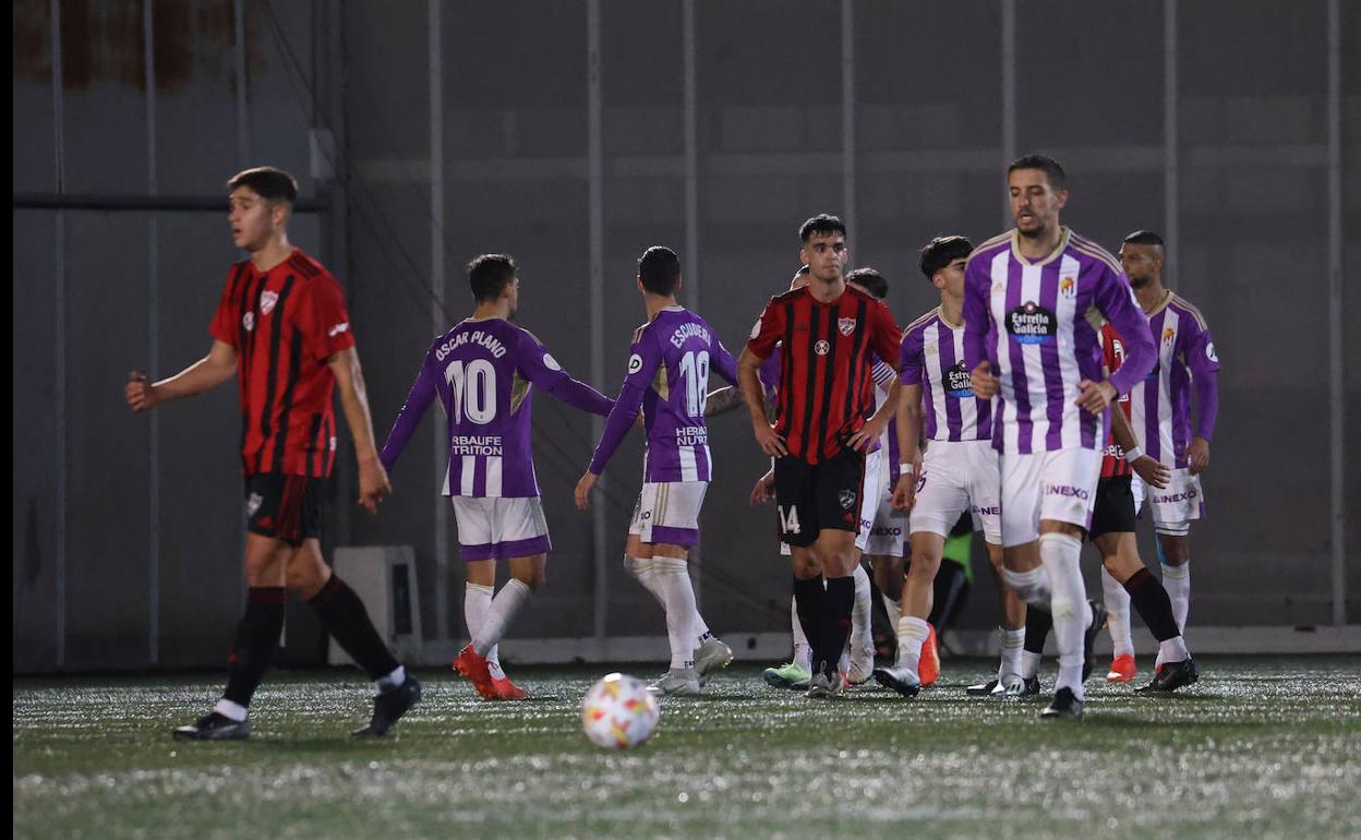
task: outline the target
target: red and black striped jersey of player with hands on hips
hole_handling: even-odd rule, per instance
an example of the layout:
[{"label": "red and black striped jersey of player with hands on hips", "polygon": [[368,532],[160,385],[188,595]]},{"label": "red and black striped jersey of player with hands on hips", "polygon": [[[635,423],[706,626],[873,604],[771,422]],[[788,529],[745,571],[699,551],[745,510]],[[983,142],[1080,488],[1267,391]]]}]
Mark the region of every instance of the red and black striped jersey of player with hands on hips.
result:
[{"label": "red and black striped jersey of player with hands on hips", "polygon": [[770,298],[747,350],[768,358],[780,342],[776,432],[815,464],[847,448],[875,410],[874,358],[897,362],[901,331],[882,301],[848,286],[821,304],[807,287]]}]

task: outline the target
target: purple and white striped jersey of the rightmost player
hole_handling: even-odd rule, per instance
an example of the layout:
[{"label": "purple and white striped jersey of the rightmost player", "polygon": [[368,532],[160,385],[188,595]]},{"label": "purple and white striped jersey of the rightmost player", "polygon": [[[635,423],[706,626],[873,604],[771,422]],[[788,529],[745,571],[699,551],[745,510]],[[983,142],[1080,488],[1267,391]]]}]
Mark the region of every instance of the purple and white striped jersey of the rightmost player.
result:
[{"label": "purple and white striped jersey of the rightmost player", "polygon": [[1195,437],[1210,440],[1219,413],[1219,358],[1204,316],[1185,298],[1168,291],[1147,317],[1158,361],[1130,392],[1130,421],[1145,453],[1169,467],[1185,467],[1191,389],[1199,406]]}]

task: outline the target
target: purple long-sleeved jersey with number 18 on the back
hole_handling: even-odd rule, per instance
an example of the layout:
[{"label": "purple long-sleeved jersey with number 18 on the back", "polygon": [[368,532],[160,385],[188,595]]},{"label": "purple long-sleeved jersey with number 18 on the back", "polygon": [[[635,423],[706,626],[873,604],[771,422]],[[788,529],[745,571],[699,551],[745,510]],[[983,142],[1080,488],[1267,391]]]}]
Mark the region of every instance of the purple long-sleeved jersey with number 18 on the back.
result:
[{"label": "purple long-sleeved jersey with number 18 on the back", "polygon": [[642,408],[648,429],[642,481],[712,481],[709,432],[704,423],[709,369],[736,384],[738,364],[705,320],[668,306],[633,334],[629,374],[591,459],[599,475]]}]

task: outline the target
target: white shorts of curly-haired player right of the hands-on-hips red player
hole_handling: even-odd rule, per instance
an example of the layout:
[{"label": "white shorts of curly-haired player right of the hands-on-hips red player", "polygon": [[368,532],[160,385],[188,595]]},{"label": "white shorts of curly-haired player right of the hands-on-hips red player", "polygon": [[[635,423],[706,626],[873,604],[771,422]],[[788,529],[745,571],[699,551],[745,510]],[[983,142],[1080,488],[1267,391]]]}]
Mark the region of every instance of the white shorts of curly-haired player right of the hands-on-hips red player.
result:
[{"label": "white shorts of curly-haired player right of the hands-on-hips red player", "polygon": [[968,511],[973,530],[992,545],[1002,543],[1002,474],[992,441],[931,441],[917,476],[911,534],[950,536]]}]

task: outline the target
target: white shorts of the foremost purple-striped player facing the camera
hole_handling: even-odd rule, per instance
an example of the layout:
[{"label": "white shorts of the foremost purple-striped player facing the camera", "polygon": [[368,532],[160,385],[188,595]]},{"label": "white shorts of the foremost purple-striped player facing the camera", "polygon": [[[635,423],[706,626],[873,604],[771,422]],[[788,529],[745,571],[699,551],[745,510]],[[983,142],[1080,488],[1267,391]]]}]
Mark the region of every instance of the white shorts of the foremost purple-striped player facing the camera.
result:
[{"label": "white shorts of the foremost purple-striped player facing the camera", "polygon": [[1097,504],[1102,453],[1071,447],[1002,455],[1002,546],[1040,539],[1040,520],[1087,528]]}]

